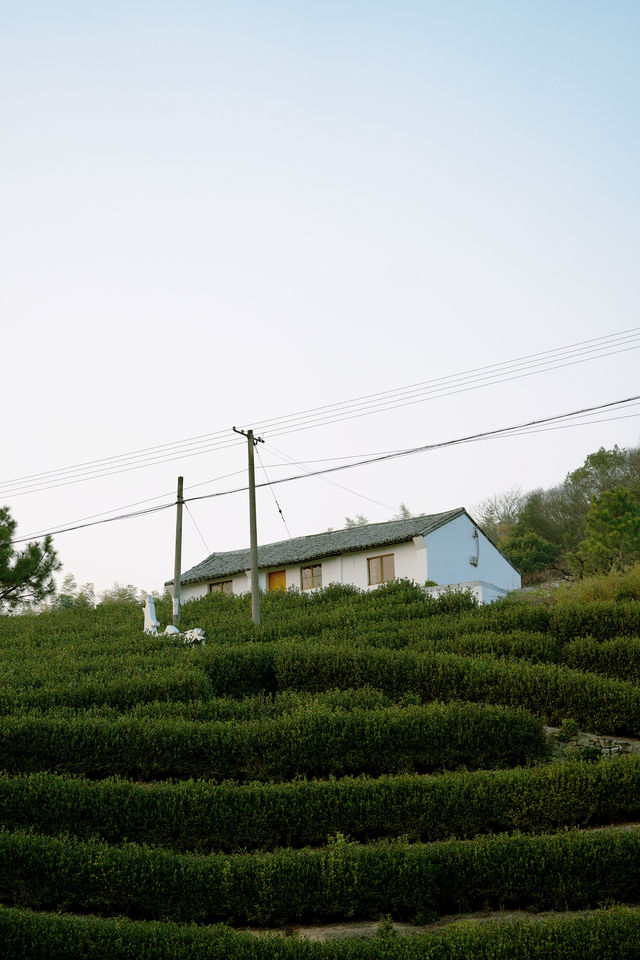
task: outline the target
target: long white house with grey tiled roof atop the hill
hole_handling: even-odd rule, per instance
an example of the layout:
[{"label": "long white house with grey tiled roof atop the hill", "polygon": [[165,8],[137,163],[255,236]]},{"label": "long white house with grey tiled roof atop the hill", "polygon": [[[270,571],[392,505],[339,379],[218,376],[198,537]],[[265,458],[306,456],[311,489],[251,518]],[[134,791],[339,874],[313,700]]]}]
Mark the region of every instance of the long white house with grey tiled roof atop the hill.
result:
[{"label": "long white house with grey tiled roof atop the hill", "polygon": [[[181,577],[183,602],[213,591],[251,589],[249,549],[211,556]],[[481,603],[520,587],[518,570],[463,507],[446,513],[370,523],[258,547],[261,590],[316,590],[348,583],[368,590],[406,577],[418,584],[471,588]],[[166,584],[173,586],[173,580]]]}]

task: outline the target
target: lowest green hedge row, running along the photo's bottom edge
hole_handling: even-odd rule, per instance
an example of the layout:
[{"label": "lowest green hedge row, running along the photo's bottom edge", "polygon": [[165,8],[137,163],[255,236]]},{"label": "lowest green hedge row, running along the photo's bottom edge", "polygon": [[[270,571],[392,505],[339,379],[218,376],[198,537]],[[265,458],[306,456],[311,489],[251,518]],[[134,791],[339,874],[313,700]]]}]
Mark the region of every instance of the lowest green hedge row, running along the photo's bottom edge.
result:
[{"label": "lowest green hedge row, running along the photo's bottom edge", "polygon": [[98,919],[0,907],[3,960],[635,960],[640,911],[520,918],[327,943],[222,925]]}]

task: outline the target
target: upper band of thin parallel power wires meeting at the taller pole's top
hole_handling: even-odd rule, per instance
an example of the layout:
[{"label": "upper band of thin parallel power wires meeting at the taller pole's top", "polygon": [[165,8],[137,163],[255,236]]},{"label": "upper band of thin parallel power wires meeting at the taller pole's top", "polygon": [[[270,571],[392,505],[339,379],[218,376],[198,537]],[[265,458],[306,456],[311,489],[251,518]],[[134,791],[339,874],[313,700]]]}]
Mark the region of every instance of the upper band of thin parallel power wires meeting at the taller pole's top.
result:
[{"label": "upper band of thin parallel power wires meeting at the taller pole's top", "polygon": [[[567,366],[635,350],[638,347],[640,347],[640,327],[634,327],[605,337],[595,337],[564,347],[528,354],[514,360],[476,367],[463,373],[260,421],[260,429],[263,432],[266,429],[272,436],[283,436],[300,430],[341,423],[357,417],[371,416],[399,407],[548,373]],[[144,447],[114,457],[103,457],[57,470],[2,481],[0,495],[25,496],[28,493],[43,492],[56,487],[202,456],[239,445],[239,443],[229,438],[227,430],[219,430],[155,447]]]}]

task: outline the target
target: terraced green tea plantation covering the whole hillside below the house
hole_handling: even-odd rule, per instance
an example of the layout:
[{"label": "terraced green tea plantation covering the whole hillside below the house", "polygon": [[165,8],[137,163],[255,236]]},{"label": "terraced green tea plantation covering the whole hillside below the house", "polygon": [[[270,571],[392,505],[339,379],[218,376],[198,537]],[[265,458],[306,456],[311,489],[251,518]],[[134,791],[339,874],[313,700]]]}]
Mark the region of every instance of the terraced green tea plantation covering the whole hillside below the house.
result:
[{"label": "terraced green tea plantation covering the whole hillside below the house", "polygon": [[639,601],[262,615],[187,604],[198,647],[135,605],[0,618],[3,960],[640,956],[640,754],[545,729],[640,737]]}]

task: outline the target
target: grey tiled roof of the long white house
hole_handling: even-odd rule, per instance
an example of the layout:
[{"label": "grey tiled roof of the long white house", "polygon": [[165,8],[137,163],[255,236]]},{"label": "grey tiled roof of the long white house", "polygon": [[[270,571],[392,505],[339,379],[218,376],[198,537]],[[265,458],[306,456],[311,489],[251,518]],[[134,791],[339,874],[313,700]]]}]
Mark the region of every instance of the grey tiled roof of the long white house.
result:
[{"label": "grey tiled roof of the long white house", "polygon": [[[316,533],[309,537],[295,537],[292,540],[280,540],[278,543],[265,543],[258,547],[258,567],[261,570],[272,567],[293,566],[324,557],[335,557],[343,553],[355,553],[359,550],[371,550],[391,543],[403,543],[421,534],[431,533],[455,517],[465,513],[464,507],[448,510],[445,513],[432,513],[428,516],[411,517],[408,520],[390,520],[388,523],[369,523],[362,527],[348,527],[345,530],[331,530]],[[199,583],[202,580],[218,580],[243,573],[251,567],[249,549],[231,550],[228,553],[212,553],[211,556],[196,564],[182,574],[182,583]],[[168,580],[170,586],[173,580]]]}]

